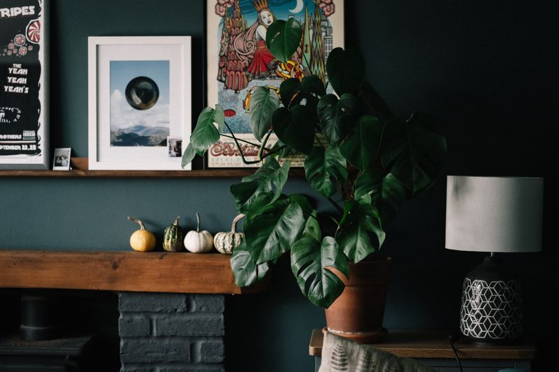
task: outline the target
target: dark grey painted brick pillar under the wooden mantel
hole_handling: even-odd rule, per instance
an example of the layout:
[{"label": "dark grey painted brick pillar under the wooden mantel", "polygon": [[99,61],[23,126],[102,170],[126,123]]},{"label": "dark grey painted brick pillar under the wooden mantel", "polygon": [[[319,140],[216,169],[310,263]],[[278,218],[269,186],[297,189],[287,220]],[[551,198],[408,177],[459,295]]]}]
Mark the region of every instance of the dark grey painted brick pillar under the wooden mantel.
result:
[{"label": "dark grey painted brick pillar under the wooden mantel", "polygon": [[224,371],[224,295],[120,292],[122,372]]}]

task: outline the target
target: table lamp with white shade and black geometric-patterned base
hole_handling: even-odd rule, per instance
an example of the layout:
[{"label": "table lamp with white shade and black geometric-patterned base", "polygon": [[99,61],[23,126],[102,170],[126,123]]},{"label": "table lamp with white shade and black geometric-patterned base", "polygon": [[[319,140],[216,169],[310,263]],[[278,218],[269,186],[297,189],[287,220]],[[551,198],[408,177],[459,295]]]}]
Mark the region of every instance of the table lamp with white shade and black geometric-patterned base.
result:
[{"label": "table lamp with white shade and black geometric-patterned base", "polygon": [[543,195],[542,178],[447,179],[445,247],[491,253],[463,283],[460,332],[474,341],[505,343],[522,334],[520,287],[495,253],[542,250]]}]

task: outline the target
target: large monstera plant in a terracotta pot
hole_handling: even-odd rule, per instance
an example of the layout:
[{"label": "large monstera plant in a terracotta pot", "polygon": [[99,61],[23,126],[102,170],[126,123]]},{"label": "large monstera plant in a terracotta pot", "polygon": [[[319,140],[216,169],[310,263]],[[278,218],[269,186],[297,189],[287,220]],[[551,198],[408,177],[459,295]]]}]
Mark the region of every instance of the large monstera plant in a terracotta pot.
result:
[{"label": "large monstera plant in a terracotta pot", "polygon": [[[268,29],[266,45],[277,60],[287,61],[299,47],[301,34],[296,20],[278,20]],[[259,141],[256,162],[263,165],[231,186],[238,212],[246,215],[246,238],[233,251],[231,267],[238,285],[251,285],[281,255],[290,254],[293,275],[312,304],[351,308],[377,297],[355,292],[358,288],[386,288],[386,278],[377,274],[389,273],[389,260],[370,257],[382,246],[384,226],[402,202],[433,185],[444,163],[446,140],[423,112],[409,119],[396,117],[365,81],[365,62],[356,50],[333,50],[326,73],[335,94],[314,75],[284,80],[279,95],[268,87],[258,87],[252,94],[250,126]],[[218,128],[228,129],[240,149],[222,107],[206,107],[184,152],[183,166],[219,140]],[[272,132],[279,141],[268,146]],[[317,214],[303,195],[282,193],[291,165],[287,157],[293,152],[305,154],[308,184],[333,204],[337,216]],[[336,194],[339,201],[333,199]],[[360,269],[361,265],[381,268]],[[363,285],[359,272],[373,276],[375,284]],[[356,288],[344,292],[344,283],[351,281],[356,281]],[[351,292],[349,301],[354,304],[337,306],[338,300],[333,305],[342,292],[344,296]],[[381,292],[386,295],[386,289]],[[384,302],[372,306],[379,308],[381,320],[369,322],[365,329],[331,326],[331,321],[356,317],[329,315],[328,310],[329,329],[372,339],[382,336]],[[370,310],[365,315],[371,318]]]}]

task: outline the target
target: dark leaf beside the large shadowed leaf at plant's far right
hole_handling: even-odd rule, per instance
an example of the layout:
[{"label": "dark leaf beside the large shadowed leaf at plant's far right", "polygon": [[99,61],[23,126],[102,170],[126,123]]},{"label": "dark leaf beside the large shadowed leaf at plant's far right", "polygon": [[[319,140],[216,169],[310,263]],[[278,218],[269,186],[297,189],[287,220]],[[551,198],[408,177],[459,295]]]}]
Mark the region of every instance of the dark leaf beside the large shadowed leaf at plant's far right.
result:
[{"label": "dark leaf beside the large shadowed leaf at plant's far right", "polygon": [[355,168],[365,170],[377,161],[381,140],[382,124],[379,119],[363,115],[354,133],[340,145],[340,153]]}]

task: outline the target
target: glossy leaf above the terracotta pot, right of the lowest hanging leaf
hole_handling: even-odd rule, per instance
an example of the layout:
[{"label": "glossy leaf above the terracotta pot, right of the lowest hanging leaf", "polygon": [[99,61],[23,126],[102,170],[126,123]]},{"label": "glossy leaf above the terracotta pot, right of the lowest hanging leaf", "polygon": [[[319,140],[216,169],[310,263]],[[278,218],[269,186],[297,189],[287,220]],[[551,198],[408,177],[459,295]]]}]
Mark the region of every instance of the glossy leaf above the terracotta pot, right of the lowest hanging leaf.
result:
[{"label": "glossy leaf above the terracotta pot, right of the lowest hanging leaf", "polygon": [[[369,233],[376,236],[374,242],[371,241]],[[363,204],[356,200],[344,202],[344,216],[340,221],[336,241],[349,260],[353,262],[363,260],[382,246],[385,237],[378,213],[370,204],[370,198]]]}]

